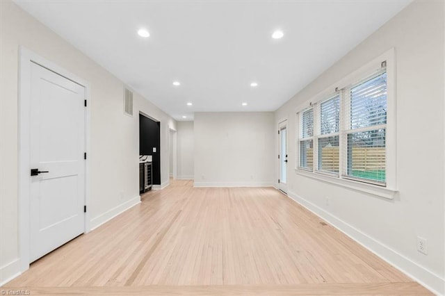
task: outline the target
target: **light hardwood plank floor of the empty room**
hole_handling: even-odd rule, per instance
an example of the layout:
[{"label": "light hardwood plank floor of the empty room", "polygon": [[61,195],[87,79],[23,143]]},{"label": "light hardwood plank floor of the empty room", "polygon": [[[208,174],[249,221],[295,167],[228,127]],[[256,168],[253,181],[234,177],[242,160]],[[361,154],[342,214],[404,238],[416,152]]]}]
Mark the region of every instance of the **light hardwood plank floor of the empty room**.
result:
[{"label": "light hardwood plank floor of the empty room", "polygon": [[273,188],[172,181],[31,265],[31,295],[431,295]]}]

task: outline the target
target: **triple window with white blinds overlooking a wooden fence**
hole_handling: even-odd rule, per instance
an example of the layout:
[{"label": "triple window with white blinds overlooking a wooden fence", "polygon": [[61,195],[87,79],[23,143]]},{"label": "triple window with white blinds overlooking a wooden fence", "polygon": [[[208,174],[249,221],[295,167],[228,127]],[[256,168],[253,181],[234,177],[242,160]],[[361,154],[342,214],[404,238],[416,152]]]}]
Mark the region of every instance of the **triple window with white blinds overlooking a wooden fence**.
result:
[{"label": "triple window with white blinds overlooking a wooden fence", "polygon": [[340,81],[342,88],[324,92],[321,100],[300,108],[299,170],[316,173],[318,179],[332,180],[330,176],[346,180],[342,183],[396,188],[394,127],[388,130],[388,120],[391,126],[395,124],[395,105],[389,99],[386,62],[374,60],[366,70],[359,69]]}]

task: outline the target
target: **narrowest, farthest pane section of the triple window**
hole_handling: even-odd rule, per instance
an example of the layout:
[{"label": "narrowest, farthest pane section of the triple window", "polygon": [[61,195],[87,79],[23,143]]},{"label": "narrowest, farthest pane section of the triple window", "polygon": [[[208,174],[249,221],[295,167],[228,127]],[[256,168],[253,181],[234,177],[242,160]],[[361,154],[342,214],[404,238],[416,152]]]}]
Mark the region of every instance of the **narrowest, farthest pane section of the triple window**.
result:
[{"label": "narrowest, farthest pane section of the triple window", "polygon": [[306,170],[314,167],[314,109],[309,108],[301,116],[300,164]]}]

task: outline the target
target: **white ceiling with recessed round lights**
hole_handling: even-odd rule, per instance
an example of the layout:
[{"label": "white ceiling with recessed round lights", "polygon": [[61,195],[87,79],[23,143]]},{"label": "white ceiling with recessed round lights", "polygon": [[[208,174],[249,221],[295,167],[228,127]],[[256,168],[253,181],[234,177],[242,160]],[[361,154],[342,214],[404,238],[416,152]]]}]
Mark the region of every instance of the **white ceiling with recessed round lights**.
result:
[{"label": "white ceiling with recessed round lights", "polygon": [[[410,0],[15,3],[176,120],[191,120],[276,110]],[[280,40],[270,37],[277,28]]]}]

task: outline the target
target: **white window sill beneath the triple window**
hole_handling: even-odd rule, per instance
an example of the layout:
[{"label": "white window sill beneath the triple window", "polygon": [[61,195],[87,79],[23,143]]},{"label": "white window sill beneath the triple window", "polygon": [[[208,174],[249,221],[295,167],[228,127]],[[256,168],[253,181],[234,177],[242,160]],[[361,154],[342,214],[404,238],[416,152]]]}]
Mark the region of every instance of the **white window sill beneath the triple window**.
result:
[{"label": "white window sill beneath the triple window", "polygon": [[385,199],[394,199],[398,190],[389,189],[386,187],[373,185],[369,183],[360,183],[348,179],[339,179],[337,176],[329,176],[327,174],[319,174],[316,172],[307,172],[305,170],[295,170],[296,174],[300,176],[307,176],[308,178],[316,179],[318,181],[323,181],[325,183],[330,183],[336,186],[341,186],[349,189],[353,189],[359,192],[364,192],[369,195],[375,195],[378,197],[384,197]]}]

